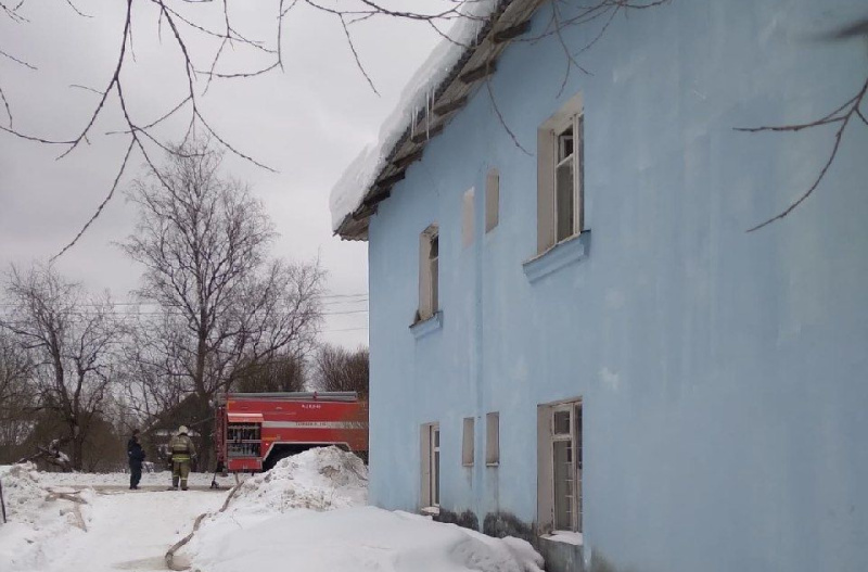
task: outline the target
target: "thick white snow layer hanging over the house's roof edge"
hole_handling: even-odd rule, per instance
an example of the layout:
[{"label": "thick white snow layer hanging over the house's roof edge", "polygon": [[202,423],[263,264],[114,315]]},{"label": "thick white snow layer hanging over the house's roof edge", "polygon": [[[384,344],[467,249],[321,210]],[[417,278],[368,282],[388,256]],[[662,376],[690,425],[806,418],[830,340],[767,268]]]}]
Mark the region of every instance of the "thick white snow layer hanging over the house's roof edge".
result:
[{"label": "thick white snow layer hanging over the house's roof edge", "polygon": [[365,200],[368,189],[386,166],[395,145],[411,125],[420,109],[433,102],[435,90],[445,81],[464,53],[472,49],[484,25],[501,5],[499,0],[465,0],[459,17],[444,38],[417,69],[401,92],[398,104],[380,128],[380,137],[365,148],[344,170],[332,188],[329,206],[332,230],[352,215]]}]

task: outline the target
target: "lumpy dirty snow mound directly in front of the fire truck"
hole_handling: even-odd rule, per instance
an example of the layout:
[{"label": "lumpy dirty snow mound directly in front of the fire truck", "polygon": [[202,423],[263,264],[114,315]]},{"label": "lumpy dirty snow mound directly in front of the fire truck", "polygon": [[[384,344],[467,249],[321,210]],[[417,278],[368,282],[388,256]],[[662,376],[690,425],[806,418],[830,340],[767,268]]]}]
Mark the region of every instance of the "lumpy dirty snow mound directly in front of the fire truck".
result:
[{"label": "lumpy dirty snow mound directly in front of the fire truck", "polygon": [[368,469],[361,459],[337,447],[322,447],[281,459],[270,471],[245,481],[229,510],[331,510],[365,505],[367,499]]}]

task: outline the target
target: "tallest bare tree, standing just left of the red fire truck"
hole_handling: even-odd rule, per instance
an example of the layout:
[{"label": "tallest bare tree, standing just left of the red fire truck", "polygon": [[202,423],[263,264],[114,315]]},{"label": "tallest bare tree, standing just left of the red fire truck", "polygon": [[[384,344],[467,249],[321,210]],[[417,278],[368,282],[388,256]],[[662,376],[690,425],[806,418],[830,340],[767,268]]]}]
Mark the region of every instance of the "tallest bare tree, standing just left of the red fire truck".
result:
[{"label": "tallest bare tree, standing just left of the red fire truck", "polygon": [[[144,387],[154,405],[193,394],[206,444],[212,428],[204,420],[216,393],[263,364],[312,347],[323,279],[318,264],[268,259],[271,223],[245,186],[221,176],[220,160],[201,141],[167,153],[166,166],[130,193],[140,218],[123,244],[145,267],[139,295],[161,308],[141,322]],[[154,392],[163,382],[170,391]]]}]

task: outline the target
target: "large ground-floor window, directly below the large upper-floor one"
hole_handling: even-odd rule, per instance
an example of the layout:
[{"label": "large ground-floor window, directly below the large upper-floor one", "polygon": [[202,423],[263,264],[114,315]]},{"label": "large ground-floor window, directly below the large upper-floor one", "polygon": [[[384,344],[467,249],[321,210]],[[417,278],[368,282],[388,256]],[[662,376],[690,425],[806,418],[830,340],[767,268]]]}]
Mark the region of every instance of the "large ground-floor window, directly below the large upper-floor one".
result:
[{"label": "large ground-floor window, directly below the large upper-floor one", "polygon": [[582,401],[539,407],[538,521],[544,531],[582,532]]}]

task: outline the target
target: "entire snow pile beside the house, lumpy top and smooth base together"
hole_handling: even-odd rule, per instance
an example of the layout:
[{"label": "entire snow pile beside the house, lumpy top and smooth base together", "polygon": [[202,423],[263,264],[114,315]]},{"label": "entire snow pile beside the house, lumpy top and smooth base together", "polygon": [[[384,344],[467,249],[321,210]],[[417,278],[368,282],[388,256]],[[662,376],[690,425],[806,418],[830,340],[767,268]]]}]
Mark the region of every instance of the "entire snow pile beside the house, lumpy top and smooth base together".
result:
[{"label": "entire snow pile beside the house, lumpy top and smooth base together", "polygon": [[182,556],[208,572],[541,570],[525,541],[365,506],[367,483],[365,465],[336,447],[284,459],[205,518]]}]

